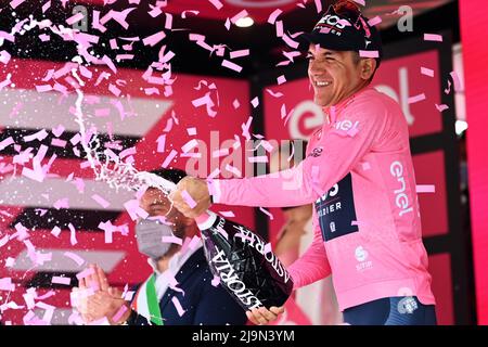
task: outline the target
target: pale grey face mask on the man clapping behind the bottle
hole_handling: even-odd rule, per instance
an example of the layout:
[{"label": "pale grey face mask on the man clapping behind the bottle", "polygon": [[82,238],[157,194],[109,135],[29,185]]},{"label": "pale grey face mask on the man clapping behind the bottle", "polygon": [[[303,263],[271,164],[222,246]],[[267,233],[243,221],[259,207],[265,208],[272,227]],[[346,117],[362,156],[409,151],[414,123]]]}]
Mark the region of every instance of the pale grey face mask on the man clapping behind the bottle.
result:
[{"label": "pale grey face mask on the man clapping behind the bottle", "polygon": [[172,228],[157,220],[144,219],[136,224],[139,252],[158,259],[168,253],[171,243],[163,242],[163,236],[172,236]]}]

